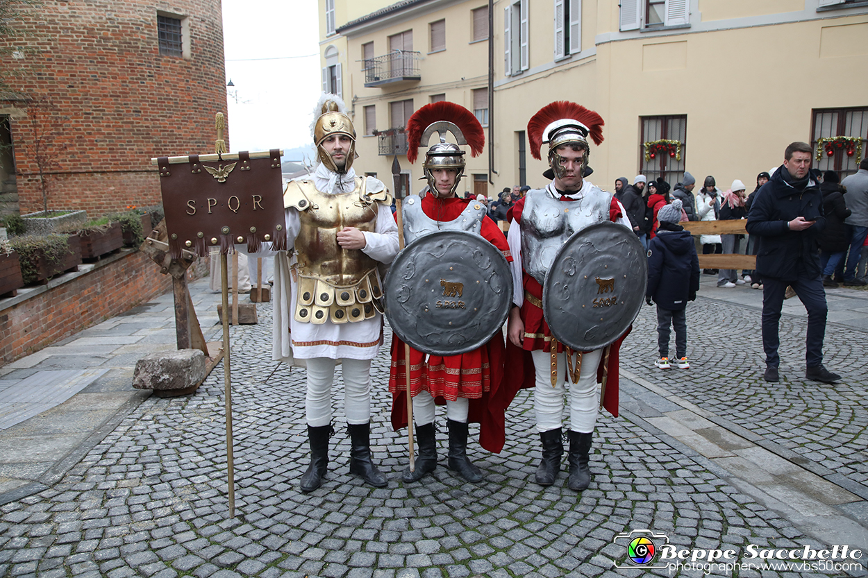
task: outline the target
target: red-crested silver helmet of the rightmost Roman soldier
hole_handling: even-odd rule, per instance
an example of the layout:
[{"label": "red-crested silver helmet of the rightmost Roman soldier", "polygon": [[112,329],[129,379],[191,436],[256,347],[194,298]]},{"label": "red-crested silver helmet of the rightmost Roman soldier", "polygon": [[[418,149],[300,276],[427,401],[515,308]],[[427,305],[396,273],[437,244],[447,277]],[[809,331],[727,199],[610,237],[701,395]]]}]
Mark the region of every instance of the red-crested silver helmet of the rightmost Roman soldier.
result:
[{"label": "red-crested silver helmet of the rightmost Roman soldier", "polygon": [[563,145],[582,148],[582,176],[590,174],[588,137],[599,145],[602,141],[602,116],[581,104],[556,101],[539,109],[528,122],[530,154],[542,160],[542,145],[549,145],[549,166],[557,178],[564,175],[562,156],[557,149]]}]

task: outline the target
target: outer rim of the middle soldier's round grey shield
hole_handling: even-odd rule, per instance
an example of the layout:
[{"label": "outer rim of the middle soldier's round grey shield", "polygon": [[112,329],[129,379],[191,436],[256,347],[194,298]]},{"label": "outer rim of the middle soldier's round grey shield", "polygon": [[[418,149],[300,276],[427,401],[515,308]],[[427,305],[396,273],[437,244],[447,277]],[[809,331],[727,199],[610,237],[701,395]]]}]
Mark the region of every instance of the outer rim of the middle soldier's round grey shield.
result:
[{"label": "outer rim of the middle soldier's round grey shield", "polygon": [[[504,299],[503,311],[500,312],[494,319],[495,321],[491,324],[491,327],[488,331],[484,332],[482,337],[468,342],[467,345],[463,347],[458,347],[455,349],[444,349],[442,347],[431,346],[430,344],[423,343],[418,340],[415,336],[404,331],[404,327],[398,323],[396,325],[393,321],[396,319],[396,316],[390,314],[390,311],[393,311],[392,299],[394,298],[394,292],[390,291],[392,284],[395,282],[394,275],[395,273],[401,269],[401,265],[404,262],[404,259],[408,259],[408,255],[411,255],[412,252],[408,251],[409,249],[413,249],[421,243],[431,243],[432,241],[436,242],[437,240],[448,239],[450,237],[456,237],[459,240],[464,240],[467,243],[473,243],[477,246],[483,247],[485,250],[490,252],[490,256],[496,260],[497,265],[503,268],[503,273],[505,278],[509,281],[507,284],[508,290],[506,294],[508,294],[508,298]],[[417,351],[422,351],[423,353],[427,353],[429,355],[440,355],[440,356],[450,356],[450,355],[460,355],[462,353],[467,353],[468,351],[473,351],[486,343],[488,343],[491,338],[493,338],[497,332],[502,331],[503,324],[506,323],[506,319],[509,318],[510,315],[510,307],[512,305],[512,273],[510,271],[509,261],[503,256],[503,253],[497,249],[496,246],[492,245],[488,240],[484,239],[482,236],[468,233],[466,231],[457,231],[457,230],[445,230],[445,231],[433,231],[431,233],[425,233],[424,235],[418,237],[418,239],[413,240],[413,242],[405,246],[401,249],[400,252],[395,256],[395,259],[392,260],[391,266],[389,267],[389,273],[386,274],[384,282],[384,295],[385,298],[383,300],[385,305],[385,317],[389,321],[389,325],[391,326],[392,332],[398,336],[405,344],[410,345],[413,349]],[[398,318],[399,319],[399,318]]]}]

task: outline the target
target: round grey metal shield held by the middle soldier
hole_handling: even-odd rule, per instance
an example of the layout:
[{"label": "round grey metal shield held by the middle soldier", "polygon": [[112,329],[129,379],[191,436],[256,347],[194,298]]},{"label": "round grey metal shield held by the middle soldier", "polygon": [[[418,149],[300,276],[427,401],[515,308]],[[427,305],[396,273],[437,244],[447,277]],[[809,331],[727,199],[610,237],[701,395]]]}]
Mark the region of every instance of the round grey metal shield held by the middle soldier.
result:
[{"label": "round grey metal shield held by the middle soldier", "polygon": [[385,313],[404,343],[431,355],[458,355],[501,331],[512,303],[503,254],[464,231],[429,233],[392,261]]}]

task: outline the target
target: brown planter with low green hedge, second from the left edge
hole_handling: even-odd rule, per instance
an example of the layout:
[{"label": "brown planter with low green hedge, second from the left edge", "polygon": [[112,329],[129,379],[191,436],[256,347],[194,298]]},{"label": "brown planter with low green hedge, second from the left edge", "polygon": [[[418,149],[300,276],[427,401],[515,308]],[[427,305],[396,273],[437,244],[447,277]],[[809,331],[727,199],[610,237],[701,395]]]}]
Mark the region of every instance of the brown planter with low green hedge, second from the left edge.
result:
[{"label": "brown planter with low green hedge, second from the left edge", "polygon": [[24,285],[45,285],[82,264],[78,235],[26,235],[10,240],[10,245],[18,252]]}]

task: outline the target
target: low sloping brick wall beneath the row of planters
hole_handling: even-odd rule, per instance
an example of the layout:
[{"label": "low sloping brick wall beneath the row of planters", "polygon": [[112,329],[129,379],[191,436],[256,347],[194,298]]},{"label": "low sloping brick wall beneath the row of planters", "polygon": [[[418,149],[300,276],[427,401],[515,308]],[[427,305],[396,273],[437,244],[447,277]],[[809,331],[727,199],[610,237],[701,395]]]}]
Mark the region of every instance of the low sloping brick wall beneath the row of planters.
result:
[{"label": "low sloping brick wall beneath the row of planters", "polygon": [[[207,259],[187,271],[207,273]],[[135,251],[0,312],[0,367],[172,291],[145,253]]]}]

